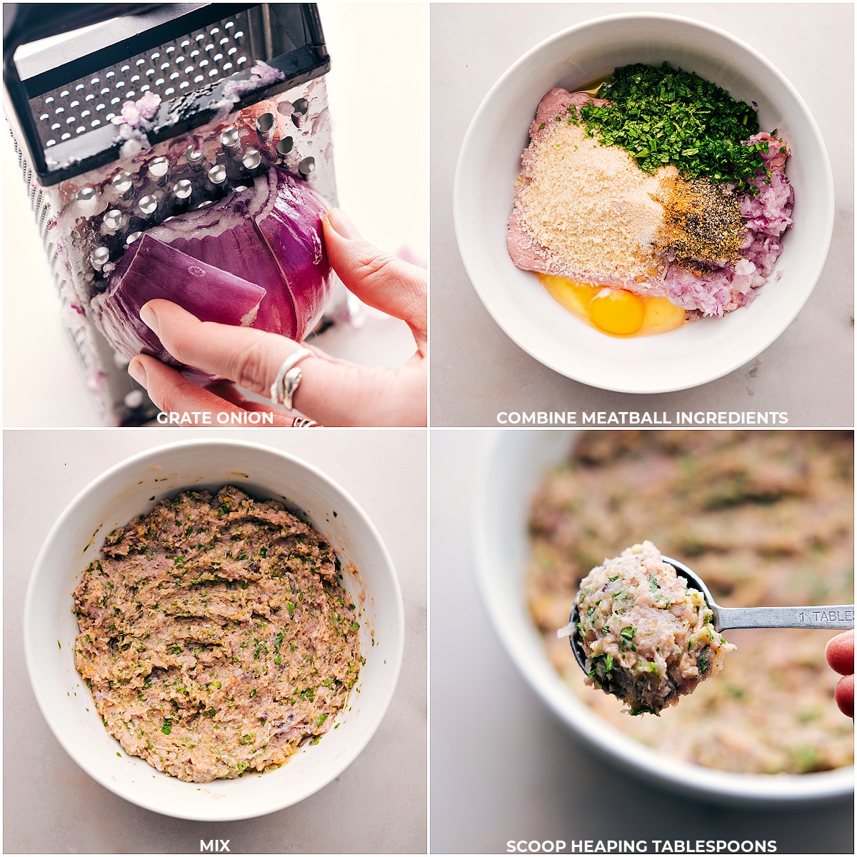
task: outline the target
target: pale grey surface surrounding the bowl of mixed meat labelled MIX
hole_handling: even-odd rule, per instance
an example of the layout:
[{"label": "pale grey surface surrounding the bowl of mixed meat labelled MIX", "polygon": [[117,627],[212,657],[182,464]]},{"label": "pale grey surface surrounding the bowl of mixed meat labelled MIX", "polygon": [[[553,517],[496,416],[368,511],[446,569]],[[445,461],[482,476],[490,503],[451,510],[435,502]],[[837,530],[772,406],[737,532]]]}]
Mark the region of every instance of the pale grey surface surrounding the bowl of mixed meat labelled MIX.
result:
[{"label": "pale grey surface surrounding the bowl of mixed meat labelled MIX", "polygon": [[[405,602],[405,658],[387,715],[333,782],[296,806],[223,824],[167,818],[90,779],[63,751],[36,704],[21,639],[27,580],[63,508],[93,478],[141,450],[204,432],[3,432],[3,850],[6,854],[425,853],[426,432],[258,430],[333,477],[381,533]],[[13,535],[14,534],[14,535]]]}]

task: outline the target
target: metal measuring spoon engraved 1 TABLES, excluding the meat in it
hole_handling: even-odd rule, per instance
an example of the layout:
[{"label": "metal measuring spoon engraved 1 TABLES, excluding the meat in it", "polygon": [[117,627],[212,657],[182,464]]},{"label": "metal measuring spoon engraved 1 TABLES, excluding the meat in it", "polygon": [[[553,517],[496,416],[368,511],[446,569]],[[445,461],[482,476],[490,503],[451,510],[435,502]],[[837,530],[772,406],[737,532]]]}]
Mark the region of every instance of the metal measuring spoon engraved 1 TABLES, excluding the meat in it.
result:
[{"label": "metal measuring spoon engraved 1 TABLES, excluding the meat in it", "polygon": [[[687,585],[699,590],[714,614],[711,624],[717,632],[729,628],[827,628],[835,631],[848,631],[854,627],[854,604],[836,604],[829,607],[721,607],[717,604],[708,587],[696,572],[692,572],[683,562],[662,556],[662,560],[673,566]],[[580,668],[586,672],[586,653],[580,641],[578,622],[580,611],[577,599],[568,617],[572,629],[568,640]]]}]

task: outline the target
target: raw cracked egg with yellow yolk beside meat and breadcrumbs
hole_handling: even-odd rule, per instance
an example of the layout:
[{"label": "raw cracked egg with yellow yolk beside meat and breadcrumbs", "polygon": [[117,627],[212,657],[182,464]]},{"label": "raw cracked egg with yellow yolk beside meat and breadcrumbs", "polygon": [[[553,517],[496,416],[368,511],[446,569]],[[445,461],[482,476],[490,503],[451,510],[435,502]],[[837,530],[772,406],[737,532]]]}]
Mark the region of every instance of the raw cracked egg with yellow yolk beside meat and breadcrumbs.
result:
[{"label": "raw cracked egg with yellow yolk beside meat and breadcrumbs", "polygon": [[685,311],[665,297],[640,297],[625,289],[549,274],[538,274],[538,278],[557,303],[602,333],[648,336],[685,323]]}]

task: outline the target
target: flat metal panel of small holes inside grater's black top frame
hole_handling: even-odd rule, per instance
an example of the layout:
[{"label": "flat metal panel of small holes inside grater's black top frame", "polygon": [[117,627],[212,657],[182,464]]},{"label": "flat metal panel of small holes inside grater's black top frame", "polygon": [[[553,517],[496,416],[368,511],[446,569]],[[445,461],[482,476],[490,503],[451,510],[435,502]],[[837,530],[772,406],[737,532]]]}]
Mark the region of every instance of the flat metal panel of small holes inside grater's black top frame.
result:
[{"label": "flat metal panel of small holes inside grater's black top frame", "polygon": [[30,99],[43,145],[56,146],[111,122],[125,101],[144,93],[167,101],[249,69],[259,52],[251,44],[248,19],[239,12]]}]

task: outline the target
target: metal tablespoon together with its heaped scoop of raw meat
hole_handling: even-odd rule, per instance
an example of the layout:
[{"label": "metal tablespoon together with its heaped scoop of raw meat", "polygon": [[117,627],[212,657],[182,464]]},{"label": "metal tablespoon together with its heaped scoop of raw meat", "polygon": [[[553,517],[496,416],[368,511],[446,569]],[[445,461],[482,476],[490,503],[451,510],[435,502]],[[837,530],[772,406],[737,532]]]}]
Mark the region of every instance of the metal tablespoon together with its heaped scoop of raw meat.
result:
[{"label": "metal tablespoon together with its heaped scoop of raw meat", "polygon": [[854,606],[723,608],[702,579],[651,542],[604,560],[580,582],[569,637],[586,683],[632,715],[660,714],[723,668],[728,628],[854,627]]}]

